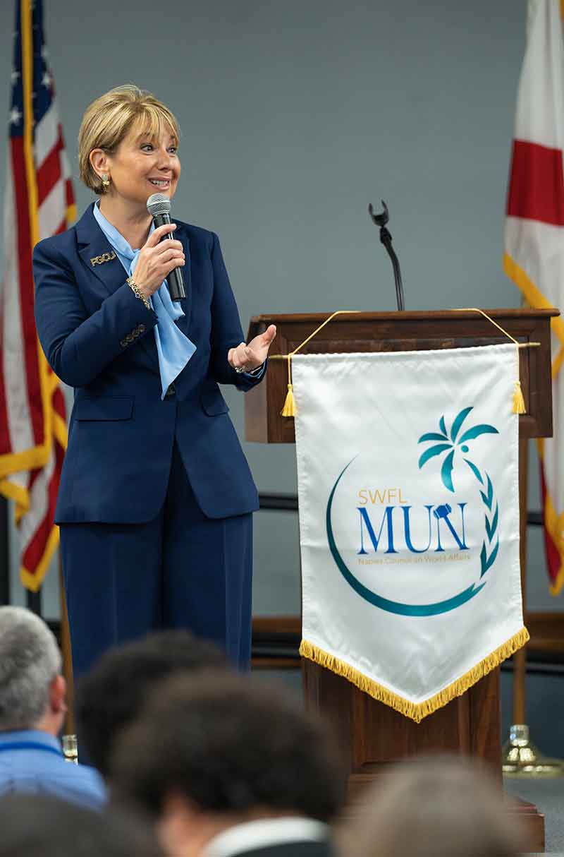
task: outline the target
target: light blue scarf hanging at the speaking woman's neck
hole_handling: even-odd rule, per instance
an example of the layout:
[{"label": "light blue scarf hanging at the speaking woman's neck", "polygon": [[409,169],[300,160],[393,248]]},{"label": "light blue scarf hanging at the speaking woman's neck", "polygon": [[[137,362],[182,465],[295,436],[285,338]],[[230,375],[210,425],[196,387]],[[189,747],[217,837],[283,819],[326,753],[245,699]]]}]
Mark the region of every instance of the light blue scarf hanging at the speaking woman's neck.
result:
[{"label": "light blue scarf hanging at the speaking woman's neck", "polygon": [[[105,237],[110,242],[111,246],[116,250],[116,255],[122,266],[131,277],[134,273],[137,260],[139,259],[140,249],[134,250],[122,236],[121,232],[116,230],[115,226],[110,224],[110,221],[104,217],[104,214],[98,208],[98,203],[94,206],[94,217],[98,222],[98,226],[104,232]],[[151,223],[149,235],[155,229],[155,225]],[[179,319],[184,315],[184,310],[180,303],[173,302],[170,299],[169,286],[166,279],[163,280],[163,285],[159,286],[157,291],[153,292],[149,298],[152,309],[157,314],[157,325],[154,327],[155,342],[157,344],[158,368],[161,373],[161,399],[169,389],[170,384],[181,374],[182,369],[187,365],[188,360],[192,357],[196,346],[181,330],[176,327],[175,319]]]}]

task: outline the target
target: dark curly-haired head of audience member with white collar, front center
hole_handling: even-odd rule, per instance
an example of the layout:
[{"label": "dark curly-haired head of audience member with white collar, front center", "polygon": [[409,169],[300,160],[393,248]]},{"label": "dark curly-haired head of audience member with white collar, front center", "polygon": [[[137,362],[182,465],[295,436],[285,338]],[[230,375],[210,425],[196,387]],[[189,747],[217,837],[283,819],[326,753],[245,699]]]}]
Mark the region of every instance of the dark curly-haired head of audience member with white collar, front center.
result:
[{"label": "dark curly-haired head of audience member with white collar, front center", "polygon": [[236,824],[329,822],[344,798],[331,735],[282,689],[235,674],[174,678],[123,734],[119,796],[157,819],[165,850],[200,854]]}]

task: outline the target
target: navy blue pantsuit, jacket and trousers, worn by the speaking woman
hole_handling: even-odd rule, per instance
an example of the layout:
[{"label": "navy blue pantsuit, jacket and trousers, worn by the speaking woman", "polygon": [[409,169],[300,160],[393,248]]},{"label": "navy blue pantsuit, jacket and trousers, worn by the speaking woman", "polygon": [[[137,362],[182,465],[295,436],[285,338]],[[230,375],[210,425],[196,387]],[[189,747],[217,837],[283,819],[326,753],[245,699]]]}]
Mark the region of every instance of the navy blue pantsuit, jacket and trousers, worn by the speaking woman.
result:
[{"label": "navy blue pantsuit, jacket and trousers, worn by the speaking woman", "polygon": [[246,668],[258,494],[217,386],[242,391],[243,339],[217,236],[176,220],[187,297],[176,324],[197,350],[161,399],[157,316],[92,214],[33,254],[45,356],[74,387],[56,506],[77,674],[110,644],[188,627]]}]

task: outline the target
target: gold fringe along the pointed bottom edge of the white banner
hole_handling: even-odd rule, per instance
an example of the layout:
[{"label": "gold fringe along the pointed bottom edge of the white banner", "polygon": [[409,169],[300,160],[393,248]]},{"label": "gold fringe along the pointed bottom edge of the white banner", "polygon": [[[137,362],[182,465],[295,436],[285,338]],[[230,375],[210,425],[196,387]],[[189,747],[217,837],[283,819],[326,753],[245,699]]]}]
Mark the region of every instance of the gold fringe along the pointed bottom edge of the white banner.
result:
[{"label": "gold fringe along the pointed bottom edge of the white banner", "polygon": [[466,693],[480,679],[483,679],[484,675],[490,673],[492,669],[499,667],[500,663],[505,661],[506,658],[514,655],[528,640],[529,632],[524,626],[512,638],[508,639],[506,643],[503,643],[498,649],[492,651],[490,655],[484,657],[483,661],[480,661],[475,667],[468,670],[467,673],[461,675],[460,679],[454,681],[452,685],[445,687],[444,690],[436,693],[435,696],[425,699],[424,702],[420,703],[410,702],[408,699],[398,696],[397,693],[390,691],[383,685],[379,685],[377,681],[369,679],[363,673],[360,673],[358,669],[351,667],[350,664],[341,661],[340,658],[334,655],[329,655],[328,652],[320,649],[308,640],[302,639],[300,655],[314,663],[318,663],[320,667],[325,667],[330,669],[331,672],[341,675],[344,679],[350,681],[351,684],[356,685],[359,690],[377,699],[378,702],[383,702],[384,705],[389,705],[390,708],[399,711],[400,714],[409,717],[416,723],[420,723],[424,717],[433,714],[442,708],[443,705],[451,702],[454,697],[462,696],[463,693]]}]

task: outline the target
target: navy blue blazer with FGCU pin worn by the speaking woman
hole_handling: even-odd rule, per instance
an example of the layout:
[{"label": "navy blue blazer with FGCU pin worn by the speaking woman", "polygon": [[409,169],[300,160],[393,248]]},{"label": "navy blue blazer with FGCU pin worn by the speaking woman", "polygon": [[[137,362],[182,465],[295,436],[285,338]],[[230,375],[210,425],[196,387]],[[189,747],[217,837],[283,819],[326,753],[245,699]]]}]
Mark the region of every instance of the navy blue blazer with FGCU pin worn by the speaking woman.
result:
[{"label": "navy blue blazer with FGCU pin worn by the speaking woman", "polygon": [[[258,508],[257,489],[217,383],[258,381],[229,366],[243,339],[217,235],[175,220],[187,263],[187,297],[176,321],[197,346],[161,400],[157,315],[126,273],[92,206],[33,251],[35,320],[53,371],[74,387],[57,524],[139,524],[157,516],[174,442],[202,511],[226,518]],[[112,257],[113,255],[113,257]],[[104,261],[105,260],[105,261]]]}]

